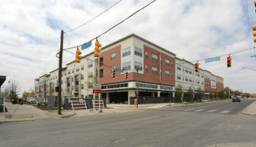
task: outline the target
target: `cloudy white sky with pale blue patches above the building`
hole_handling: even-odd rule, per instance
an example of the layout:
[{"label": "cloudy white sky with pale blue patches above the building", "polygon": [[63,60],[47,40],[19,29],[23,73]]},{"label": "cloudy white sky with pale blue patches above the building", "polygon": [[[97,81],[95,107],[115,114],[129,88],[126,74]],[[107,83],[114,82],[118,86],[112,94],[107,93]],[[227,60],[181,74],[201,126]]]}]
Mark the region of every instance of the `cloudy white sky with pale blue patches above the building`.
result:
[{"label": "cloudy white sky with pale blue patches above the building", "polygon": [[[0,75],[6,75],[2,87],[10,85],[11,79],[18,83],[21,96],[24,91],[34,89],[35,78],[57,69],[61,30],[67,32],[64,49],[78,46],[152,2],[119,1],[1,0]],[[101,14],[107,8],[110,9]],[[85,24],[98,14],[101,14],[98,18]],[[72,30],[82,24],[85,25]],[[251,29],[254,24],[253,0],[157,0],[99,40],[104,46],[137,34],[178,58],[199,61],[201,69],[224,78],[225,87],[256,93],[256,71],[252,70],[256,69],[256,57],[251,57],[256,52]],[[93,50],[94,46],[82,50],[82,56]],[[245,51],[237,53],[242,50]],[[75,49],[69,51],[75,53]],[[63,66],[75,59],[72,53],[63,52]],[[229,54],[231,68],[226,66]],[[216,56],[220,56],[220,61],[205,63],[203,60]]]}]

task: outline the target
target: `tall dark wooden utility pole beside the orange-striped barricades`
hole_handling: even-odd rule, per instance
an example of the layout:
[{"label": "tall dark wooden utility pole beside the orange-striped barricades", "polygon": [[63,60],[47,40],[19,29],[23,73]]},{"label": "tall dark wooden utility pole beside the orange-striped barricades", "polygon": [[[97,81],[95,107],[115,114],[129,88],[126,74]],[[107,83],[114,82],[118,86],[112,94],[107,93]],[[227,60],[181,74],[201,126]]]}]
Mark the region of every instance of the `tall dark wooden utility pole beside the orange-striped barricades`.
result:
[{"label": "tall dark wooden utility pole beside the orange-striped barricades", "polygon": [[64,31],[61,30],[61,36],[60,36],[60,49],[59,49],[59,88],[58,91],[58,114],[61,115],[61,91],[62,91],[62,52],[63,52],[63,34]]}]

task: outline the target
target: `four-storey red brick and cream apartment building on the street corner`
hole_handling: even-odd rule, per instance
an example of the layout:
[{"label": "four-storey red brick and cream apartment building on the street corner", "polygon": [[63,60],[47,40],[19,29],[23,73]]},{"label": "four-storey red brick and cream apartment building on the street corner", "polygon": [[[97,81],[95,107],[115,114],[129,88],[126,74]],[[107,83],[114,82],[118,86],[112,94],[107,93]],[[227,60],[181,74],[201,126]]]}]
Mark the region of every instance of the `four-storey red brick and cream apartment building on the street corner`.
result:
[{"label": "four-storey red brick and cream apartment building on the street corner", "polygon": [[[138,95],[146,97],[175,97],[175,88],[180,84],[184,92],[191,87],[209,94],[216,85],[223,83],[223,78],[203,69],[195,72],[194,63],[179,59],[169,51],[171,49],[164,49],[136,34],[103,46],[101,50],[100,58],[89,53],[82,56],[80,63],[72,61],[62,68],[62,98],[92,97],[92,84],[96,80],[101,83],[101,97],[106,98],[107,103],[130,104],[130,97],[136,97],[137,75]],[[114,78],[111,78],[112,69],[117,69]],[[124,72],[128,72],[128,78],[124,78]],[[34,83],[36,97],[50,95],[50,88],[58,85],[58,69],[36,78]]]}]

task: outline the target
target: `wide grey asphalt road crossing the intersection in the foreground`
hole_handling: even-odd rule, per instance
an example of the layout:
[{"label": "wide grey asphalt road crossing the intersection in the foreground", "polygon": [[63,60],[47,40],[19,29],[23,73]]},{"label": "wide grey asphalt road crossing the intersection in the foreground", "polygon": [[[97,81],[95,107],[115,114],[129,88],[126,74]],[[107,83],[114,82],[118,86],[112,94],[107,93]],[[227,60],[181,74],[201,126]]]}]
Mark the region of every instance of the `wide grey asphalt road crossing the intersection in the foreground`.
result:
[{"label": "wide grey asphalt road crossing the intersection in the foreground", "polygon": [[[99,116],[0,124],[0,146],[207,146],[254,142],[248,104],[219,101]],[[214,111],[213,111],[214,110]],[[228,111],[229,110],[229,111]]]}]

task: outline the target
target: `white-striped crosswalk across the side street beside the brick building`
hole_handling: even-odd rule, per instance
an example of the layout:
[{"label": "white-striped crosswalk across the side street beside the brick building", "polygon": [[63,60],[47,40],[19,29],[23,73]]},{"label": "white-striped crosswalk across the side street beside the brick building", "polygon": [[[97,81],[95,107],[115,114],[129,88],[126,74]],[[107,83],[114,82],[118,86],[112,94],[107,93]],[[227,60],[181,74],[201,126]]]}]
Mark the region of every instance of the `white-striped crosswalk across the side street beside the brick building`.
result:
[{"label": "white-striped crosswalk across the side street beside the brick building", "polygon": [[184,112],[204,112],[204,113],[230,113],[230,110],[206,110],[206,109],[197,109],[197,108],[186,108],[186,107],[160,107],[156,108],[155,110],[165,110],[165,111],[184,111]]}]

